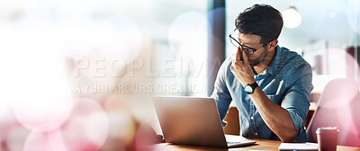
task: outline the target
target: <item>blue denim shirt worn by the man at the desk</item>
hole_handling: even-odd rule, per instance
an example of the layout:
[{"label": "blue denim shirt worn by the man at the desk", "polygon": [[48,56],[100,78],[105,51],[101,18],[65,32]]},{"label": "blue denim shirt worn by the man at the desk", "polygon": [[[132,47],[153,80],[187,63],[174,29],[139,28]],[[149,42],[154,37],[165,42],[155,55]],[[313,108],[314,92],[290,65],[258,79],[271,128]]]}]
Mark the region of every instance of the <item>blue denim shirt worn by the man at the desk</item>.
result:
[{"label": "blue denim shirt worn by the man at the desk", "polygon": [[[280,140],[261,118],[254,102],[244,92],[244,86],[231,73],[235,54],[227,58],[219,69],[211,97],[215,99],[222,126],[230,102],[235,102],[240,122],[240,136]],[[311,66],[296,52],[276,47],[273,62],[266,70],[254,75],[255,81],[267,97],[289,112],[298,131],[294,141],[307,141],[304,123],[310,107]]]}]

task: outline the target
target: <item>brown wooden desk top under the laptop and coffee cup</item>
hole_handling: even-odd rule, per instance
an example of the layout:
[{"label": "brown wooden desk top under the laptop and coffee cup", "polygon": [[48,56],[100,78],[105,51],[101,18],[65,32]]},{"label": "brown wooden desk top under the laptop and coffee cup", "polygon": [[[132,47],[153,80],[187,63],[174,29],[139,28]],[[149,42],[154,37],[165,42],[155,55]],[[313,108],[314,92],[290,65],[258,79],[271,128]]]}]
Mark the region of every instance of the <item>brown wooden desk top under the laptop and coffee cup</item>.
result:
[{"label": "brown wooden desk top under the laptop and coffee cup", "polygon": [[[249,138],[251,140],[257,141],[256,145],[251,145],[247,147],[231,147],[231,148],[220,148],[220,147],[198,147],[198,146],[184,146],[184,145],[172,145],[168,143],[161,143],[154,145],[151,149],[156,151],[173,151],[173,150],[187,150],[187,151],[237,151],[237,150],[278,150],[281,141],[277,140],[267,140],[259,138]],[[360,151],[359,147],[344,147],[338,146],[338,151]]]}]

